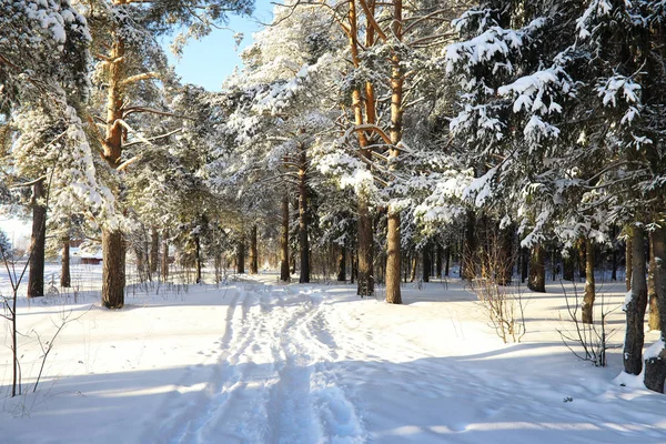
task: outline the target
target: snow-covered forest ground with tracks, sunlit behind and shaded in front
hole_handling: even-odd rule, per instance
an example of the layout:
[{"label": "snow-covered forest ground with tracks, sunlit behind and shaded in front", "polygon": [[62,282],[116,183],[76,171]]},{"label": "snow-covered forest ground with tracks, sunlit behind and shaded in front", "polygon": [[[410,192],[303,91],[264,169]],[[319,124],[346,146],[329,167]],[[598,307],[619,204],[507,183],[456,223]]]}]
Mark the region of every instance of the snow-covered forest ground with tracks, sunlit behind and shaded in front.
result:
[{"label": "snow-covered forest ground with tracks, sunlit behind and shaded in front", "polygon": [[[99,278],[98,269],[78,272]],[[622,304],[623,283],[599,286],[606,309]],[[495,335],[457,280],[405,284],[403,305],[361,300],[351,284],[283,285],[271,273],[132,286],[118,312],[93,290],[75,302],[21,299],[14,398],[9,330],[0,332],[0,441],[666,442],[666,396],[617,377],[622,350],[602,369],[564,346],[563,289],[573,292],[551,283],[546,294],[523,294],[519,344]],[[46,343],[64,317],[33,393],[38,334]],[[619,309],[608,329],[622,343]]]}]

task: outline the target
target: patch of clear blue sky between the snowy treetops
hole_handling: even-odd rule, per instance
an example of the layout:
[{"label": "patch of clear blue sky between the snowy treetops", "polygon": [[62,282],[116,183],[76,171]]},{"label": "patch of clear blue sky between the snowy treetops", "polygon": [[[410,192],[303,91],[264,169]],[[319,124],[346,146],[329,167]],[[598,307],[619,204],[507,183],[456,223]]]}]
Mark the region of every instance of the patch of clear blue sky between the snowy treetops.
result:
[{"label": "patch of clear blue sky between the snowy treetops", "polygon": [[[235,65],[241,64],[239,53],[252,43],[252,34],[261,30],[261,22],[270,22],[273,4],[270,0],[256,0],[253,18],[232,16],[228,30],[214,30],[206,38],[192,40],[184,49],[181,60],[175,60],[171,53],[170,61],[175,65],[175,72],[185,83],[193,83],[209,91],[219,91],[222,81]],[[233,34],[243,32],[244,39],[238,51],[234,49]]]}]

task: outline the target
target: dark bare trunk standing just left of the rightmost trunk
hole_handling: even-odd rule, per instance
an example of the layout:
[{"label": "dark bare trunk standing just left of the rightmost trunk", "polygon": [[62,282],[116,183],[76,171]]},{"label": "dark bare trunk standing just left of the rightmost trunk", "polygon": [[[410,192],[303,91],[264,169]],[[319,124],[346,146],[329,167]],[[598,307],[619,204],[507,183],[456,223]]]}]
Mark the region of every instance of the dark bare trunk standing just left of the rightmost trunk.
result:
[{"label": "dark bare trunk standing just left of the rightmost trunk", "polygon": [[624,343],[624,370],[628,374],[640,374],[643,370],[643,343],[645,309],[647,306],[647,281],[645,279],[645,245],[643,228],[632,226],[632,291],[625,303],[627,319]]}]

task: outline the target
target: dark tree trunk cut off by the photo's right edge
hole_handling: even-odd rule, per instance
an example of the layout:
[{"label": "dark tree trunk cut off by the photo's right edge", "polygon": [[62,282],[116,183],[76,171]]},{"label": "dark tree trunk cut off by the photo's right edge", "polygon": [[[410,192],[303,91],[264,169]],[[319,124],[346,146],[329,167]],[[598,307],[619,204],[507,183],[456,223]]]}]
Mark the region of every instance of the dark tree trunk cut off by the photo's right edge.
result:
[{"label": "dark tree trunk cut off by the photo's right edge", "polygon": [[[666,297],[666,229],[658,228],[652,233],[652,250],[655,258],[655,287],[657,299]],[[666,325],[666,304],[658,304],[659,325]],[[660,332],[662,341],[666,332]],[[655,392],[664,393],[666,381],[666,350],[662,349],[656,356],[645,360],[645,386]]]}]

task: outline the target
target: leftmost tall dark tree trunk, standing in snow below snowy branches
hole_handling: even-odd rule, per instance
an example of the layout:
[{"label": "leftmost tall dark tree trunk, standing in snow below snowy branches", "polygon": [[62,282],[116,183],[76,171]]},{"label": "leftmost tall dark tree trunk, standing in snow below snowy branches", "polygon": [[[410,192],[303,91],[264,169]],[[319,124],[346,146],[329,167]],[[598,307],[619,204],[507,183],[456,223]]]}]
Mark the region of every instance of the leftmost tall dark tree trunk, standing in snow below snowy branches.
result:
[{"label": "leftmost tall dark tree trunk, standing in snow below snowy branches", "polygon": [[47,243],[47,208],[43,200],[47,193],[44,182],[32,185],[32,235],[28,271],[28,297],[44,295],[44,254]]}]

